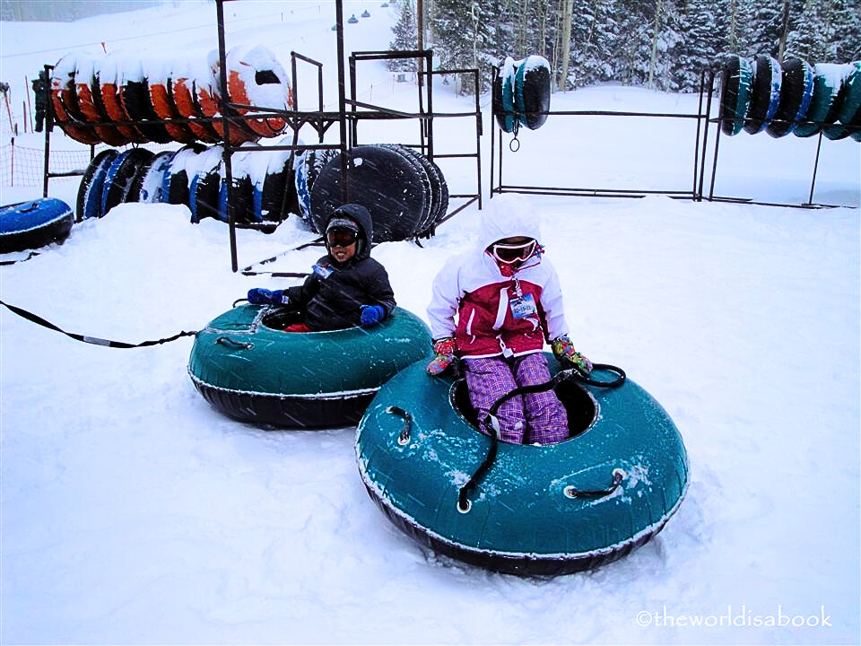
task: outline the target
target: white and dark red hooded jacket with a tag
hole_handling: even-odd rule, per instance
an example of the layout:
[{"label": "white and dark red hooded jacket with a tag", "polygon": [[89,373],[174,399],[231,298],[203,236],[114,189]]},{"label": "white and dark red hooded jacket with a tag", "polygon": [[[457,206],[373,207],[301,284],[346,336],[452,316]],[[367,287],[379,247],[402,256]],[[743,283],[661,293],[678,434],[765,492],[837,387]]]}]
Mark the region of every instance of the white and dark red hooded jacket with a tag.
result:
[{"label": "white and dark red hooded jacket with a tag", "polygon": [[541,240],[535,214],[524,213],[516,197],[493,198],[483,212],[479,248],[449,259],[434,279],[431,332],[434,338],[454,336],[461,356],[537,353],[544,342],[568,334],[559,276],[550,261],[535,255],[506,276],[485,251],[512,236]]}]

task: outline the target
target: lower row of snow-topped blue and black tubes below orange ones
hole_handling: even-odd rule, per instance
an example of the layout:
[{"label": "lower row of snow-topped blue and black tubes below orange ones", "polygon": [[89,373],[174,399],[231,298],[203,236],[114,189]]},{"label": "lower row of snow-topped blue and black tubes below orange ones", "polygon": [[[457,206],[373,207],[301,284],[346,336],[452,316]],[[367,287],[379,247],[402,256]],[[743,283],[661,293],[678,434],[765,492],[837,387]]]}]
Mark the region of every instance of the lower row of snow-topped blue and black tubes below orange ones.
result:
[{"label": "lower row of snow-topped blue and black tubes below orange ones", "polygon": [[76,217],[102,217],[129,202],[186,205],[191,222],[211,217],[271,232],[299,211],[291,151],[236,153],[231,157],[233,190],[228,186],[221,145],[189,144],[178,151],[152,153],[131,148],[97,154],[78,188]]}]

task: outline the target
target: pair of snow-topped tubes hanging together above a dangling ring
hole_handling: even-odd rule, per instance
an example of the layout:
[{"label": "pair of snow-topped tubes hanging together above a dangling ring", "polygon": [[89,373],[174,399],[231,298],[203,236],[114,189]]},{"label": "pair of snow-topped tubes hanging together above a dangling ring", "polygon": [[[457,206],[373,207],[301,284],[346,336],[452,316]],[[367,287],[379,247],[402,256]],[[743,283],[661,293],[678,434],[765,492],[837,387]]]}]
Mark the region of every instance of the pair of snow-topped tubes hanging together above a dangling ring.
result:
[{"label": "pair of snow-topped tubes hanging together above a dangling ring", "polygon": [[540,56],[506,57],[493,80],[493,111],[503,132],[536,130],[550,110],[550,63]]}]

